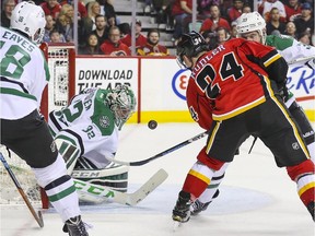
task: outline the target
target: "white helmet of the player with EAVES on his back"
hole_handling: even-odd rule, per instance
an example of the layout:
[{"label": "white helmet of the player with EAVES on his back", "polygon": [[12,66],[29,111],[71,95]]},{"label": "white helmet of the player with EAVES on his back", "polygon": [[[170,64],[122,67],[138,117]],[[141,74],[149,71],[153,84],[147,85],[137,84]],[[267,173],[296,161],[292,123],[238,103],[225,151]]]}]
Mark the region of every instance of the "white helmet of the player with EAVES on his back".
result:
[{"label": "white helmet of the player with EAVES on his back", "polygon": [[45,13],[39,5],[23,1],[12,11],[11,28],[25,33],[36,44],[42,43],[45,25]]}]

